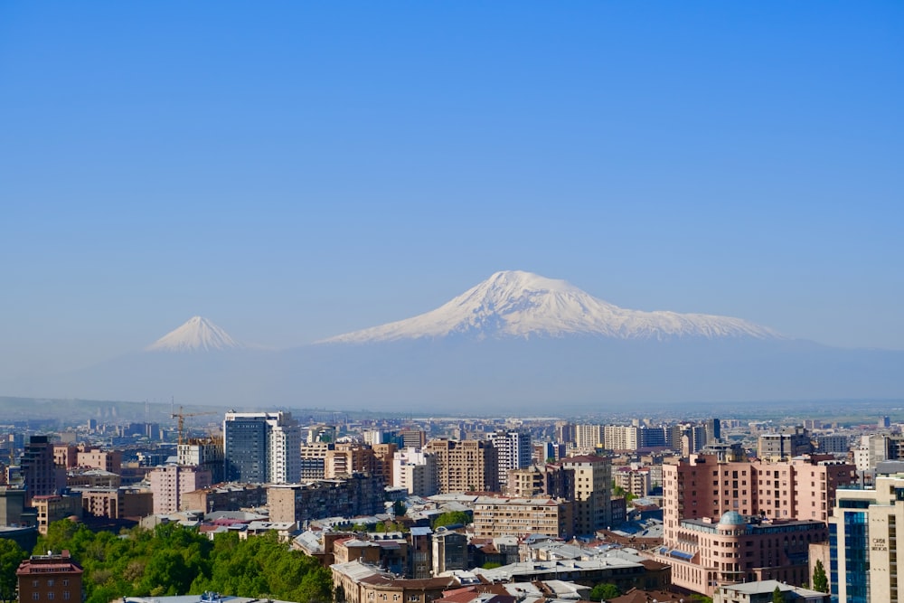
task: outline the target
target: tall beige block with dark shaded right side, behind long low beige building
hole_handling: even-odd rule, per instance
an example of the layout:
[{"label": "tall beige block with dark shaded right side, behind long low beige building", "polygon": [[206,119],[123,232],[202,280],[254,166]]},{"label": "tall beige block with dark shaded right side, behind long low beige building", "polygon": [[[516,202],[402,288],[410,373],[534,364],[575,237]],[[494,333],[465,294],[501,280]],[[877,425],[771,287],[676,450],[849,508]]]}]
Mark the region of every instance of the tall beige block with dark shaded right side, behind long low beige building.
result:
[{"label": "tall beige block with dark shaded right side, behind long low beige building", "polygon": [[606,457],[568,457],[560,467],[570,473],[556,495],[574,502],[574,533],[592,534],[612,525],[612,466]]}]

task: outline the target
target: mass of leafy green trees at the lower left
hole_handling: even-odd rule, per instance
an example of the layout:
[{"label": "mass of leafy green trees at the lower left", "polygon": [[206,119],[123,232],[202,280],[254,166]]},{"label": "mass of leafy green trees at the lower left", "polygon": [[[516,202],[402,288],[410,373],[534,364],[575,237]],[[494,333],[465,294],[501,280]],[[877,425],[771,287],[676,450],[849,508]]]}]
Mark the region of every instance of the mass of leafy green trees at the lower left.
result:
[{"label": "mass of leafy green trees at the lower left", "polygon": [[290,551],[276,532],[240,540],[235,532],[213,542],[175,523],[134,528],[117,536],[90,532],[68,520],[52,523],[37,551],[68,549],[85,570],[86,603],[120,597],[201,594],[325,603],[333,598],[329,570]]}]

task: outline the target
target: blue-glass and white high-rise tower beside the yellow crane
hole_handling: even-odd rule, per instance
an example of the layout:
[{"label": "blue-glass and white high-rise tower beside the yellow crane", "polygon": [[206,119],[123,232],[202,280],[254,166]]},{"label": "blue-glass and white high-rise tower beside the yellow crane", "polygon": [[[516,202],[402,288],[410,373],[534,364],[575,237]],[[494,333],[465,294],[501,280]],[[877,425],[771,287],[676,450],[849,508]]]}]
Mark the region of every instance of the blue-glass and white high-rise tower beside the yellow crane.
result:
[{"label": "blue-glass and white high-rise tower beside the yellow crane", "polygon": [[223,444],[227,481],[292,484],[301,477],[301,428],[291,413],[230,410]]}]

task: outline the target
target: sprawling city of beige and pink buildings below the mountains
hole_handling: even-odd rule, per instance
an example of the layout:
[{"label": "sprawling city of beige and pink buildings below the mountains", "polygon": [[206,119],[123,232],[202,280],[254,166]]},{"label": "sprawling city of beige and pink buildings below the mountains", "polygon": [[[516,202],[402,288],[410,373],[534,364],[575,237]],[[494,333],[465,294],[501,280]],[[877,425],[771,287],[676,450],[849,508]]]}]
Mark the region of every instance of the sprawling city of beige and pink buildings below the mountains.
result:
[{"label": "sprawling city of beige and pink buildings below the mountains", "polygon": [[214,547],[281,545],[320,572],[306,599],[338,603],[894,600],[897,588],[904,434],[890,415],[607,422],[92,403],[84,421],[0,427],[0,542],[23,560],[7,567],[7,600],[278,598],[222,592],[201,569],[179,592],[176,578],[117,580],[79,559],[93,546],[78,551],[82,530],[174,538],[164,528]]}]

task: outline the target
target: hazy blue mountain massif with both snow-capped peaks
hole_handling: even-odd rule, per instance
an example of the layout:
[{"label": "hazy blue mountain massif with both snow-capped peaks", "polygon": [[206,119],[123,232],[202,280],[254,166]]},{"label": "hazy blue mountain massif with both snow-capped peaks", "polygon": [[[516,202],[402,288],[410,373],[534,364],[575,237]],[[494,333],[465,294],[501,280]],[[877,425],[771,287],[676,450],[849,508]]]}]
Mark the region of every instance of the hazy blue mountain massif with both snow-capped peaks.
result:
[{"label": "hazy blue mountain massif with both snow-capped peaks", "polygon": [[645,402],[904,399],[902,365],[904,352],[791,340],[728,316],[629,310],[505,271],[419,316],[281,351],[194,317],[144,351],[0,394],[579,414]]}]

